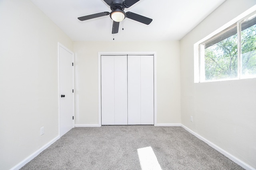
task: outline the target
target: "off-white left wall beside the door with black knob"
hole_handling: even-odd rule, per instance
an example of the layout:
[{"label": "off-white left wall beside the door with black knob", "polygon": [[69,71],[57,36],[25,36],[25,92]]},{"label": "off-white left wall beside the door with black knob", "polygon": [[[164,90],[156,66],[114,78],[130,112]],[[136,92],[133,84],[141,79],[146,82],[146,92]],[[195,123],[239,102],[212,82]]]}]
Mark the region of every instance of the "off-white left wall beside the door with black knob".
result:
[{"label": "off-white left wall beside the door with black knob", "polygon": [[30,0],[0,0],[1,170],[58,136],[58,41],[72,50]]}]

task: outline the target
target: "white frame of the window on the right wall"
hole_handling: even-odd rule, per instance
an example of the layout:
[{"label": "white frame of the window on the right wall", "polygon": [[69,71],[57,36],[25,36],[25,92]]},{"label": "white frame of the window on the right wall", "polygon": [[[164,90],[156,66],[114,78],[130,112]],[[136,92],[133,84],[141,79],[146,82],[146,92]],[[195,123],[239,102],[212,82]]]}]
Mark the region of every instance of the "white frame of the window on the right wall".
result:
[{"label": "white frame of the window on the right wall", "polygon": [[[256,6],[250,8],[246,12],[242,13],[238,17],[234,18],[232,21],[226,23],[210,35],[206,36],[204,39],[198,41],[194,44],[194,82],[216,82],[216,81],[225,81],[225,80],[240,80],[246,78],[256,78],[256,75],[246,77],[242,76],[242,49],[241,49],[241,32],[242,32],[242,22],[246,21],[252,17],[256,17]],[[223,78],[216,80],[205,80],[205,55],[204,45],[218,39],[221,35],[228,33],[228,31],[236,27],[237,31],[237,77],[236,78]],[[232,35],[230,35],[232,36]],[[230,37],[229,36],[229,37]],[[222,40],[221,40],[222,41]],[[214,43],[215,44],[215,43]],[[210,46],[209,46],[210,47]]]}]

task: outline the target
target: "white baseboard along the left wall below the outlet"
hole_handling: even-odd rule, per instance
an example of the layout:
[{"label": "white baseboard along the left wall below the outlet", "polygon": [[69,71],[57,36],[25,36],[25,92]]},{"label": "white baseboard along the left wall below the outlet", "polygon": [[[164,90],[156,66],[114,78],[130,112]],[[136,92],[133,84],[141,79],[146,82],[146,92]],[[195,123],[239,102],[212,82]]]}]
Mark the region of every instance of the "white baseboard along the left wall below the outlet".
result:
[{"label": "white baseboard along the left wall below the outlet", "polygon": [[24,160],[22,160],[20,163],[18,163],[16,166],[12,167],[10,170],[19,170],[24,166],[26,163],[28,163],[30,160],[34,159],[38,154],[40,154],[43,150],[48,148],[50,145],[52,145],[54,142],[56,142],[58,139],[60,139],[60,136],[55,137],[50,142],[46,143],[44,146],[42,146],[40,149],[36,150],[34,153],[26,157]]}]

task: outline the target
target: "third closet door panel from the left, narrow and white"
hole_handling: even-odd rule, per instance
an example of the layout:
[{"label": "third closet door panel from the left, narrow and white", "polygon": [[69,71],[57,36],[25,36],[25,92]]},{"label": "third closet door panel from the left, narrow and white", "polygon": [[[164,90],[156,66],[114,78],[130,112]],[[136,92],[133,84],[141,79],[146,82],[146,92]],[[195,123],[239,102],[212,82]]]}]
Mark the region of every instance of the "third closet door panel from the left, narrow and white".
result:
[{"label": "third closet door panel from the left, narrow and white", "polygon": [[128,125],[140,125],[139,56],[128,56]]}]

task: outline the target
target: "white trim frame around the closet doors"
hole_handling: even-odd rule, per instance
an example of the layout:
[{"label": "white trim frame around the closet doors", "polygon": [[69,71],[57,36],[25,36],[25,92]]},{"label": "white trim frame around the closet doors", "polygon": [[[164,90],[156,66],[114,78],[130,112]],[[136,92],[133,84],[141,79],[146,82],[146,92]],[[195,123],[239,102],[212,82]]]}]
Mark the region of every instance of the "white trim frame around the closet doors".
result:
[{"label": "white trim frame around the closet doors", "polygon": [[98,126],[101,126],[101,57],[102,55],[154,55],[154,126],[157,125],[156,108],[156,52],[98,52]]}]

